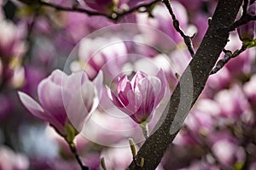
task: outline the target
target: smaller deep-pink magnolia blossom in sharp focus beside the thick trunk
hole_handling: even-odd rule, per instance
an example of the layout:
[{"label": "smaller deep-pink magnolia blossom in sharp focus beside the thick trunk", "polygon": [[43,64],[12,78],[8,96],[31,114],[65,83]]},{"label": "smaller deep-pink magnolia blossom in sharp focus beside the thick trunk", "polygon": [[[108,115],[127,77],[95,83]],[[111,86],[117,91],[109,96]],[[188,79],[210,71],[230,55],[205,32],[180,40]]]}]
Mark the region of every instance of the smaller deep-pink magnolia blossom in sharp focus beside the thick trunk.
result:
[{"label": "smaller deep-pink magnolia blossom in sharp focus beside the thick trunk", "polygon": [[127,76],[119,78],[117,94],[108,88],[108,96],[113,104],[140,124],[150,121],[165,92],[166,77],[162,70],[156,77],[138,71],[131,81]]}]

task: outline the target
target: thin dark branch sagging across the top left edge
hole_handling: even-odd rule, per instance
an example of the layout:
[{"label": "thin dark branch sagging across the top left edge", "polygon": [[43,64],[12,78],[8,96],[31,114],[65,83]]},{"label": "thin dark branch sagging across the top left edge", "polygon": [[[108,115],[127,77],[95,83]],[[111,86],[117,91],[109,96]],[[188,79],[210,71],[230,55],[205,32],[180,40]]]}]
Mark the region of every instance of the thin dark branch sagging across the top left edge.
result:
[{"label": "thin dark branch sagging across the top left edge", "polygon": [[40,4],[42,6],[55,8],[56,10],[59,10],[59,11],[78,12],[78,13],[83,13],[83,14],[87,14],[87,15],[90,15],[90,16],[104,16],[104,17],[108,18],[109,20],[119,20],[120,18],[125,16],[125,14],[131,14],[133,12],[136,12],[139,8],[143,8],[143,7],[144,8],[150,8],[155,3],[160,2],[160,0],[154,0],[151,3],[142,3],[140,5],[137,5],[134,8],[130,8],[130,9],[122,11],[122,12],[117,12],[117,13],[113,13],[113,14],[104,14],[104,13],[100,13],[100,12],[97,12],[97,11],[88,10],[88,9],[85,9],[85,8],[79,8],[77,6],[63,7],[63,6],[55,4],[55,3],[46,3],[46,2],[41,1],[41,0],[35,1],[33,3],[31,3],[31,1],[28,1],[28,0],[19,0],[19,1],[22,2],[22,3],[26,3],[27,5]]}]

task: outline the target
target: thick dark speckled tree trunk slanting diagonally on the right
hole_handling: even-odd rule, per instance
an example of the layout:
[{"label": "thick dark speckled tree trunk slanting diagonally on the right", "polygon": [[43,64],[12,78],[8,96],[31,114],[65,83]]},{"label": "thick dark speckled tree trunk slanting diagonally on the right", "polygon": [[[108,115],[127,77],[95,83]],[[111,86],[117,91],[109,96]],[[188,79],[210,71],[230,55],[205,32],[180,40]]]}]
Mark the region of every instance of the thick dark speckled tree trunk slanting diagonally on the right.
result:
[{"label": "thick dark speckled tree trunk slanting diagonally on the right", "polygon": [[[144,158],[144,166],[141,169],[154,170],[160,163],[169,144],[176,137],[177,132],[170,133],[174,117],[178,114],[186,115],[189,109],[198,99],[202,89],[205,87],[212,67],[215,65],[220,53],[227,43],[230,26],[233,25],[236,14],[241,7],[242,0],[219,0],[217,8],[212,16],[212,22],[207,33],[195,53],[194,58],[189,63],[186,71],[174,90],[168,108],[155,127],[154,133],[145,141],[142,148],[137,153],[137,160]],[[192,76],[192,77],[191,77]],[[189,85],[189,82],[192,82]],[[185,92],[182,90],[183,84],[188,87]],[[192,93],[191,101],[186,100],[186,93]],[[188,109],[189,108],[189,109]],[[182,111],[182,112],[179,112]],[[179,129],[179,128],[178,128]],[[134,162],[131,162],[129,169],[138,169]]]}]

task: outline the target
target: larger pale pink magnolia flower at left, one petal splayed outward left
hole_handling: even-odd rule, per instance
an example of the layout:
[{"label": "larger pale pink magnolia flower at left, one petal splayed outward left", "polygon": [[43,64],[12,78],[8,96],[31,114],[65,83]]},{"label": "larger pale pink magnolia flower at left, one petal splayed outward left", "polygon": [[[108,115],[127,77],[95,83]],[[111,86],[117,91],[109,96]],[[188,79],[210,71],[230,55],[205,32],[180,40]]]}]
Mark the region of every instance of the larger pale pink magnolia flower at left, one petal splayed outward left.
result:
[{"label": "larger pale pink magnolia flower at left, one petal splayed outward left", "polygon": [[67,135],[67,127],[81,130],[86,117],[96,109],[101,84],[101,72],[90,82],[84,71],[67,76],[55,70],[38,85],[40,105],[27,94],[18,94],[33,116],[49,122],[61,135]]}]

